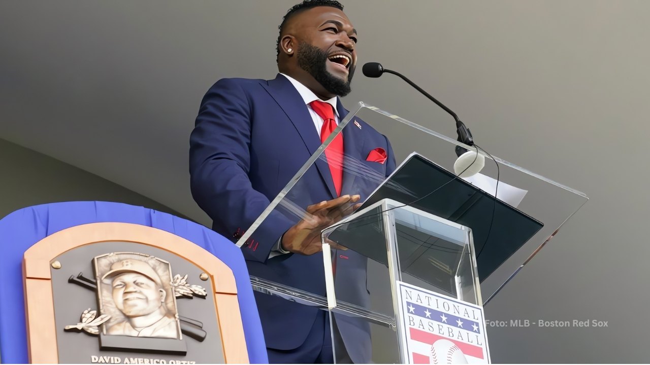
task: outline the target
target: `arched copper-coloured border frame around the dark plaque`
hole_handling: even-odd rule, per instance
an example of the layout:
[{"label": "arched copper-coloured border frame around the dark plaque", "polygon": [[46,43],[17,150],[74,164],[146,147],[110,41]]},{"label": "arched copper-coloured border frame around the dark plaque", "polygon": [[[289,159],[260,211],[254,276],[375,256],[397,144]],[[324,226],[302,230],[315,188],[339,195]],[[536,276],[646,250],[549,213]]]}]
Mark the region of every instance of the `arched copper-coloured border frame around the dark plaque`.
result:
[{"label": "arched copper-coloured border frame around the dark plaque", "polygon": [[55,258],[83,245],[110,241],[157,247],[185,258],[207,273],[213,284],[211,290],[225,362],[249,362],[233,271],[209,251],[185,238],[153,227],[117,222],[88,223],[63,229],[36,242],[25,251],[23,286],[29,362],[59,362],[51,284],[51,269],[55,268]]}]

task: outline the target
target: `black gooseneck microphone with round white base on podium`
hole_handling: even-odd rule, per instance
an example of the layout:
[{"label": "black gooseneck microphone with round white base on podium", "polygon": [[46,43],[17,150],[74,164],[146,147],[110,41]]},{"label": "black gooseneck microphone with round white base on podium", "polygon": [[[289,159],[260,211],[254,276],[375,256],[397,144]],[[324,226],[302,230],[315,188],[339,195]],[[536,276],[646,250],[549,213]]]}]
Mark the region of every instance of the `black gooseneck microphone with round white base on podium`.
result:
[{"label": "black gooseneck microphone with round white base on podium", "polygon": [[[378,62],[367,62],[363,65],[362,70],[363,75],[366,77],[376,78],[383,75],[383,73],[392,73],[393,75],[397,75],[402,80],[408,82],[408,84],[413,86],[415,90],[421,92],[422,95],[426,96],[430,101],[433,101],[438,107],[443,108],[445,112],[454,117],[454,120],[456,121],[456,133],[458,134],[458,142],[462,142],[466,145],[474,145],[474,137],[472,136],[472,132],[469,131],[469,128],[465,127],[465,123],[458,119],[456,113],[454,113],[450,108],[445,107],[443,103],[437,101],[437,99],[428,94],[428,92],[422,90],[422,88],[420,86],[417,86],[415,82],[410,81],[401,73],[395,72],[391,69],[383,68],[382,64]],[[457,145],[456,155],[458,156],[458,160],[456,160],[454,163],[454,172],[456,172],[456,175],[458,175],[458,173],[464,171],[460,177],[472,176],[481,171],[485,166],[485,157],[481,154],[478,154],[478,150],[467,151],[467,149],[464,149],[463,147],[460,147],[460,145]]]}]

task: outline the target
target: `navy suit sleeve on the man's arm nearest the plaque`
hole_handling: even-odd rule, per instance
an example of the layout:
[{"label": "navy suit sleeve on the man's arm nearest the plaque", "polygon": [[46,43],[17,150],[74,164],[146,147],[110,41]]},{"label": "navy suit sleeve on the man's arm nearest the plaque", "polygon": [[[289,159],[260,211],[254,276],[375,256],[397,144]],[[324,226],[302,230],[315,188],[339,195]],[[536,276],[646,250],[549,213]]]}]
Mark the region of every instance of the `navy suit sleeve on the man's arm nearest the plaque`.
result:
[{"label": "navy suit sleeve on the man's arm nearest the plaque", "polygon": [[[213,219],[217,233],[235,240],[270,204],[253,189],[250,171],[250,99],[233,79],[208,90],[190,136],[192,196]],[[272,212],[242,246],[246,260],[265,262],[273,245],[293,223]]]}]

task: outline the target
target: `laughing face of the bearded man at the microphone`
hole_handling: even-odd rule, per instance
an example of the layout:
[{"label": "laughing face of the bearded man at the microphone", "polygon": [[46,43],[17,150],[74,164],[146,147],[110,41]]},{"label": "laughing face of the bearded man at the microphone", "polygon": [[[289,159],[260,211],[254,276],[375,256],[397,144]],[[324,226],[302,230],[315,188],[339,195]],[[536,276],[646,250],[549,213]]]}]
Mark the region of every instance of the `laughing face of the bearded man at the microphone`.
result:
[{"label": "laughing face of the bearded man at the microphone", "polygon": [[357,33],[339,9],[318,6],[296,14],[298,66],[331,94],[350,93],[357,63]]}]

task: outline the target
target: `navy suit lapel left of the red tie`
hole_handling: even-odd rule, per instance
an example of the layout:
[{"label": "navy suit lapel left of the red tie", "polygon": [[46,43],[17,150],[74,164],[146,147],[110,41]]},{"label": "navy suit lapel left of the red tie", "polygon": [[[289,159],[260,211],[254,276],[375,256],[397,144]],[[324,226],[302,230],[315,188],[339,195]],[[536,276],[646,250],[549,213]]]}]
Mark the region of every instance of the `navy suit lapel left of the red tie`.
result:
[{"label": "navy suit lapel left of the red tie", "polygon": [[[298,90],[294,88],[291,81],[279,74],[275,79],[269,80],[268,85],[263,82],[260,84],[266,89],[266,92],[271,95],[276,103],[278,103],[279,107],[282,108],[285,114],[287,114],[287,117],[289,117],[289,120],[293,123],[296,131],[300,134],[300,138],[302,138],[305,147],[307,147],[309,155],[313,155],[318,147],[320,147],[320,136],[314,127],[311,114],[309,114],[309,110],[307,110],[307,106]],[[345,140],[343,141],[345,143]],[[330,191],[331,197],[336,197],[336,190],[331,178],[330,166],[327,164],[326,160],[324,160],[324,154],[321,158],[316,160],[315,164],[318,173],[320,173],[320,177],[323,179]]]}]

